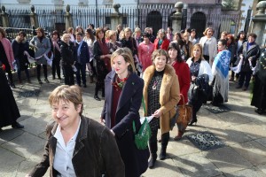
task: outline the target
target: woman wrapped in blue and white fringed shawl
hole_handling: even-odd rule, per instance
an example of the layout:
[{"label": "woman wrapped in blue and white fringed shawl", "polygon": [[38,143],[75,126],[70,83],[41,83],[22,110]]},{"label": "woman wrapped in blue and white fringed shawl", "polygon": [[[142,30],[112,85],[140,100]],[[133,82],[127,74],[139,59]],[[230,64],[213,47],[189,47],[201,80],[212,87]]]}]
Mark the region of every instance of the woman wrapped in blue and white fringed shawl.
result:
[{"label": "woman wrapped in blue and white fringed shawl", "polygon": [[231,61],[231,51],[226,50],[226,40],[222,39],[218,41],[219,53],[215,57],[214,64],[212,66],[212,74],[214,80],[213,86],[213,101],[212,104],[217,106],[228,101],[228,89],[229,89],[229,64]]}]

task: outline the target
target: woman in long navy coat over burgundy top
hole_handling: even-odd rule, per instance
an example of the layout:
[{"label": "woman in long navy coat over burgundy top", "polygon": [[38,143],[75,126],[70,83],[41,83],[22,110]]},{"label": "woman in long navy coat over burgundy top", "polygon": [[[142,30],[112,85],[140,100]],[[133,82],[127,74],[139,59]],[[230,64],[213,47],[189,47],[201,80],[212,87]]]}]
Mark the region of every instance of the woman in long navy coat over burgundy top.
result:
[{"label": "woman in long navy coat over burgundy top", "polygon": [[149,151],[140,154],[137,150],[132,123],[135,122],[137,130],[141,126],[138,110],[144,82],[136,74],[133,57],[128,48],[114,51],[111,63],[114,70],[106,76],[106,102],[101,120],[105,119],[106,127],[111,129],[116,138],[125,164],[125,176],[139,177],[147,169]]}]

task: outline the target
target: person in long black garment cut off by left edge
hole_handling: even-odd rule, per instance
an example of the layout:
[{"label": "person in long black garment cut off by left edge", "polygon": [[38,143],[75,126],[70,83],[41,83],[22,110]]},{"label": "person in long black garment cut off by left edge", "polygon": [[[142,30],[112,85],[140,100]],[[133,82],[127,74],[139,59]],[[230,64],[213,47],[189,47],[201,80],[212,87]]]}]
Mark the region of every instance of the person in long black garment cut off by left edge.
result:
[{"label": "person in long black garment cut off by left edge", "polygon": [[8,85],[4,73],[5,65],[0,61],[0,132],[2,127],[12,125],[13,128],[23,128],[17,119],[20,118],[20,111],[15,98]]}]

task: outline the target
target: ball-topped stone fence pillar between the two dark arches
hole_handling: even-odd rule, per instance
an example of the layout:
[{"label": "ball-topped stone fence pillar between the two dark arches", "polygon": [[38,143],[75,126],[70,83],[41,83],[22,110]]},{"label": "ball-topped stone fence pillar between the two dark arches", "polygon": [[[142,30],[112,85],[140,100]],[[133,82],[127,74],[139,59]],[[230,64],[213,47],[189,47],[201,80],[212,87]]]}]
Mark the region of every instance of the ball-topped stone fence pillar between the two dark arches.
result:
[{"label": "ball-topped stone fence pillar between the two dark arches", "polygon": [[182,2],[177,2],[175,4],[176,13],[171,16],[172,19],[172,27],[173,32],[176,33],[181,30],[181,24],[182,24],[182,9],[184,7],[184,4]]}]

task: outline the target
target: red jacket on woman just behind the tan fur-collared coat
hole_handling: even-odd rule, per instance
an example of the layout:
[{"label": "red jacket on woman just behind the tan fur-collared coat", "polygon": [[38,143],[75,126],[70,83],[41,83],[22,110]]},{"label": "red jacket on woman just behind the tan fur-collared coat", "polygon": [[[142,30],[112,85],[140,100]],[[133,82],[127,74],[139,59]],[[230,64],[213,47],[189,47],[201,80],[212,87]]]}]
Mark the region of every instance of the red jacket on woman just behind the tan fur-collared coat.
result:
[{"label": "red jacket on woman just behind the tan fur-collared coat", "polygon": [[183,61],[183,62],[174,62],[172,64],[174,69],[176,70],[176,75],[178,77],[179,81],[179,88],[180,88],[180,94],[184,96],[184,103],[181,99],[178,103],[178,105],[187,104],[188,102],[188,90],[190,89],[191,84],[191,73],[189,66]]}]

